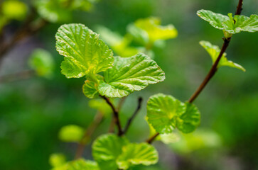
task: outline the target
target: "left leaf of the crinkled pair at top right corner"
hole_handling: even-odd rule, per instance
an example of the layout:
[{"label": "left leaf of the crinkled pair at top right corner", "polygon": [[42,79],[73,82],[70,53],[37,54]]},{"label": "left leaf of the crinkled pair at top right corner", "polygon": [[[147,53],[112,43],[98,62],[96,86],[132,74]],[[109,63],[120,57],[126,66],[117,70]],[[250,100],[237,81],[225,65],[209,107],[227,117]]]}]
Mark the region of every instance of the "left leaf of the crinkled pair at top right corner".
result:
[{"label": "left leaf of the crinkled pair at top right corner", "polygon": [[208,11],[208,10],[199,10],[197,12],[197,15],[200,16],[205,21],[208,21],[211,26],[223,30],[224,27],[222,26],[222,22],[228,21],[229,18],[228,16],[224,16],[220,13],[214,13],[213,11]]}]

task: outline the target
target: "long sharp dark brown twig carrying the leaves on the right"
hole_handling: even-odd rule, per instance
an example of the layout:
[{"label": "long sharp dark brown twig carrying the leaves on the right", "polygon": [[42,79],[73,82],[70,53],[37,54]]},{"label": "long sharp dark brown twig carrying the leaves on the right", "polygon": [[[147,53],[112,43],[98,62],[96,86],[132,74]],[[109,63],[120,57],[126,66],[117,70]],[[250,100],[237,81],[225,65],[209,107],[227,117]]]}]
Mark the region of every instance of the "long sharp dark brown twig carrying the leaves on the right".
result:
[{"label": "long sharp dark brown twig carrying the leaves on the right", "polygon": [[[237,10],[235,12],[235,15],[240,15],[241,11],[242,11],[242,4],[243,4],[243,0],[239,0],[238,1],[238,5],[237,5]],[[208,82],[210,81],[211,78],[213,78],[214,74],[217,72],[217,65],[220,62],[220,59],[223,55],[223,53],[227,50],[228,45],[230,44],[230,40],[231,38],[223,38],[224,43],[221,47],[220,50],[220,55],[217,57],[217,60],[215,61],[215,63],[213,64],[213,66],[210,68],[210,71],[208,72],[207,76],[205,77],[205,79],[203,80],[203,82],[200,84],[200,86],[198,87],[198,89],[194,92],[194,94],[190,97],[190,99],[188,100],[189,103],[193,103],[193,101],[195,100],[195,98],[198,97],[198,95],[200,94],[201,91],[203,91],[203,89],[205,88],[205,86],[208,84]],[[151,144],[151,142],[153,142],[155,140],[155,138],[159,135],[159,133],[157,132],[155,135],[153,135],[152,137],[150,137],[148,140],[146,140],[146,142],[148,142],[149,144]]]}]

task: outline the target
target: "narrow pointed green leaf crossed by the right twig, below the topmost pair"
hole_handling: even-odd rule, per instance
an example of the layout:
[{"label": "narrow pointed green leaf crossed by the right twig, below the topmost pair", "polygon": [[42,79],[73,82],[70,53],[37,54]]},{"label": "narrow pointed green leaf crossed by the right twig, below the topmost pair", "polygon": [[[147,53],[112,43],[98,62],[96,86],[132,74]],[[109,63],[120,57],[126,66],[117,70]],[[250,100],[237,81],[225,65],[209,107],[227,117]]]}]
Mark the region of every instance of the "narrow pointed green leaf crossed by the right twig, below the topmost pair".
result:
[{"label": "narrow pointed green leaf crossed by the right twig, below the topmost pair", "polygon": [[[217,45],[212,45],[208,41],[200,41],[200,45],[202,45],[205,48],[205,50],[209,53],[214,63],[217,60],[217,57],[220,55],[220,48]],[[217,67],[228,66],[241,69],[243,72],[245,72],[244,67],[242,67],[240,64],[228,61],[226,55],[227,54],[224,52]]]}]

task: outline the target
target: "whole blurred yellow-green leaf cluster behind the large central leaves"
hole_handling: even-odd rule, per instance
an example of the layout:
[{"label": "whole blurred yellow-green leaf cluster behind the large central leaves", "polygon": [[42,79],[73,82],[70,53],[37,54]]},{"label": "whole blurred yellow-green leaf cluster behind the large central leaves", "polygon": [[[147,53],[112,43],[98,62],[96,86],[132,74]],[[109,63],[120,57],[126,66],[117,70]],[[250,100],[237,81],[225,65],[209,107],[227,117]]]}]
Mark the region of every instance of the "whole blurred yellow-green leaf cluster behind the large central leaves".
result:
[{"label": "whole blurred yellow-green leaf cluster behind the large central leaves", "polygon": [[139,52],[154,57],[154,47],[162,47],[163,40],[176,38],[178,32],[176,28],[169,24],[161,26],[161,20],[156,17],[141,18],[127,26],[127,34],[119,35],[112,30],[99,26],[97,32],[107,45],[121,57],[130,57]]}]

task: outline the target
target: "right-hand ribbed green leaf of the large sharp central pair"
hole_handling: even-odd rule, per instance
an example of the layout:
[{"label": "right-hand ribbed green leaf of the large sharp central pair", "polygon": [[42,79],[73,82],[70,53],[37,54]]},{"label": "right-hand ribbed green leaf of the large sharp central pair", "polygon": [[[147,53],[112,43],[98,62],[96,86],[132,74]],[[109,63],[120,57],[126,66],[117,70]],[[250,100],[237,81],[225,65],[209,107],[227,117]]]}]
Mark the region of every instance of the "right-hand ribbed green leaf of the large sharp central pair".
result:
[{"label": "right-hand ribbed green leaf of the large sharp central pair", "polygon": [[127,58],[114,57],[114,66],[104,72],[104,81],[98,89],[102,96],[122,98],[164,79],[165,73],[156,62],[140,53]]}]

